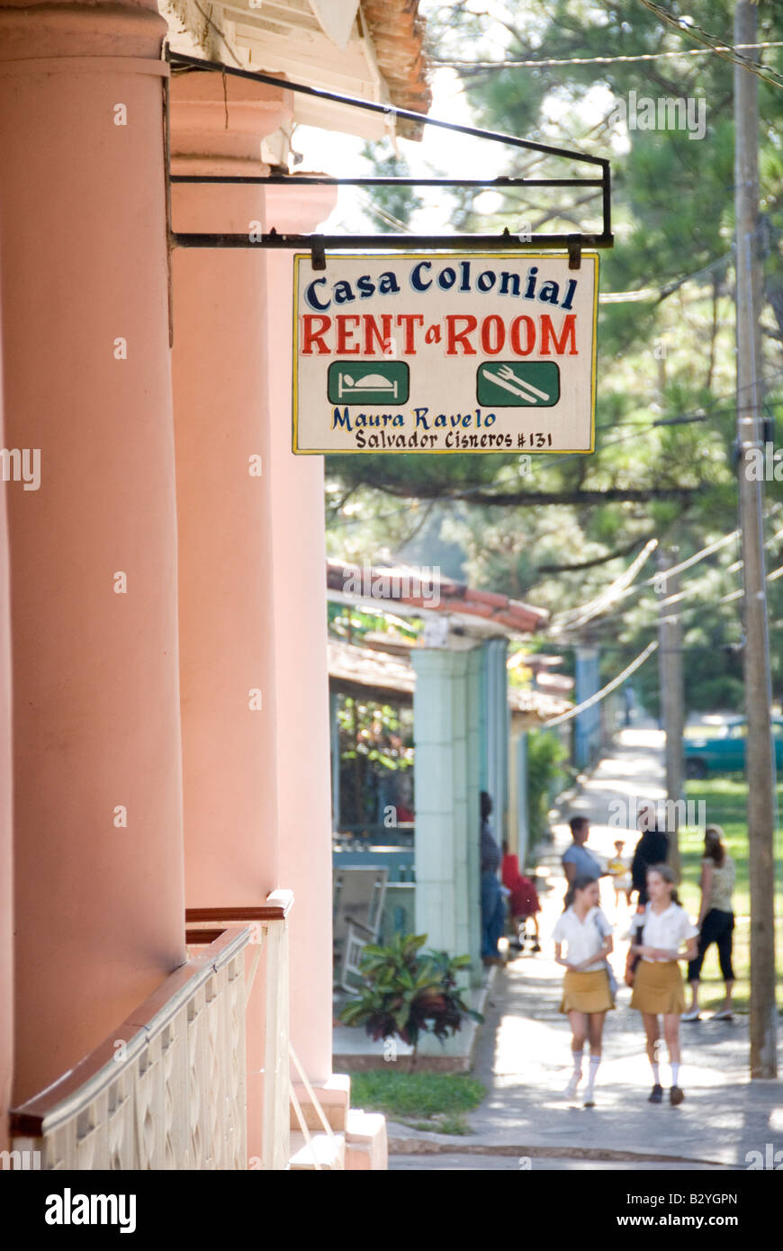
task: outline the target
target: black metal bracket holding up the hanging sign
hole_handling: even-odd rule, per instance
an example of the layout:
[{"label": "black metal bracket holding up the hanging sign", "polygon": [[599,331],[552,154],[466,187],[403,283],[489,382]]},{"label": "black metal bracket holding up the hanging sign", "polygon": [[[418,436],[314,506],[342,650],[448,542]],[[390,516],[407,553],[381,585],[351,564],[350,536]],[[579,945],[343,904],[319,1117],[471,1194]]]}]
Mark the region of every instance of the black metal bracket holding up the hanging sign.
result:
[{"label": "black metal bracket holding up the hanging sign", "polygon": [[[473,139],[483,139],[489,143],[505,144],[510,148],[524,149],[525,151],[542,153],[547,156],[559,156],[565,160],[577,161],[597,166],[597,178],[510,178],[500,176],[489,180],[459,179],[459,178],[328,178],[325,175],[298,175],[298,174],[269,174],[266,176],[233,176],[210,174],[171,174],[170,158],[166,156],[166,201],[170,200],[169,188],[178,183],[194,184],[220,184],[231,183],[241,185],[259,186],[474,186],[480,190],[505,190],[513,186],[577,186],[600,189],[602,195],[602,229],[599,234],[519,234],[514,235],[508,228],[502,234],[450,234],[450,235],[422,235],[422,234],[355,234],[355,235],[315,235],[315,234],[280,234],[274,228],[266,233],[250,234],[195,234],[179,233],[171,229],[169,218],[169,243],[171,248],[283,248],[309,250],[311,254],[313,269],[325,269],[325,253],[329,251],[355,251],[364,249],[412,250],[417,248],[444,249],[449,251],[477,250],[535,250],[558,249],[568,250],[569,269],[579,269],[582,264],[582,250],[585,248],[612,248],[614,236],[612,234],[612,181],[609,161],[603,156],[590,156],[584,153],[570,151],[565,148],[554,148],[550,144],[539,144],[532,139],[518,139],[514,135],[505,135],[494,130],[480,130],[475,126],[464,126],[454,121],[443,121],[439,118],[428,118],[409,109],[390,109],[385,104],[375,104],[371,100],[358,100],[354,96],[340,95],[335,91],[325,91],[320,88],[305,86],[303,83],[290,83],[288,79],[276,78],[270,74],[258,74],[254,70],[234,69],[230,65],[221,65],[215,61],[205,61],[198,56],[185,56],[174,53],[169,45],[164,45],[166,61],[176,73],[186,70],[211,71],[235,78],[250,79],[256,83],[265,83],[269,86],[278,86],[285,91],[299,91],[303,95],[314,96],[318,100],[330,104],[341,104],[354,109],[363,109],[368,113],[380,114],[388,118],[390,114],[413,121],[415,125],[438,126],[443,130],[453,130]],[[168,100],[166,100],[168,110]],[[166,120],[168,125],[168,120]]]}]

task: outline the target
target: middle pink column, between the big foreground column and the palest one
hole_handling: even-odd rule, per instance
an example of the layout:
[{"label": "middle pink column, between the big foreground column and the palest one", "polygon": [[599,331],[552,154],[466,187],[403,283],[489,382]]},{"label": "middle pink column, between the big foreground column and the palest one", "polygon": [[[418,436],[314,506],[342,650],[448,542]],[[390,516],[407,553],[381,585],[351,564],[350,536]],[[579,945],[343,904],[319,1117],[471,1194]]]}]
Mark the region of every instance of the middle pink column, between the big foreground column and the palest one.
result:
[{"label": "middle pink column, between the big foreground column and the palest one", "polygon": [[[225,91],[225,95],[224,95]],[[171,84],[175,173],[255,175],[290,93],[216,74]],[[173,186],[178,231],[248,233],[258,186]],[[263,903],[278,862],[264,258],[174,254],[185,878],[189,907]],[[294,903],[294,911],[299,899]],[[263,966],[248,1011],[249,1153],[260,1155]]]}]

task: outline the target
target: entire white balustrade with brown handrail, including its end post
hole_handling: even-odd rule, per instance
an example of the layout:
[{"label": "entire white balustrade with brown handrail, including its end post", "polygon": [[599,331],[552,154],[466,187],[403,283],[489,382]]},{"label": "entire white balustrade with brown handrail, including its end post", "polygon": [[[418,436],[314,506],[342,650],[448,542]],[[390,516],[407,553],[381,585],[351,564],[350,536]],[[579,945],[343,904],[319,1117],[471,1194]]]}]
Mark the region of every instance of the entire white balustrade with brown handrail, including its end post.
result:
[{"label": "entire white balustrade with brown handrail, including its end post", "polygon": [[81,1063],[13,1110],[15,1158],[60,1170],[248,1168],[245,1008],[264,955],[261,1167],[288,1168],[293,901],[274,891],[260,907],[188,909],[191,957]]}]

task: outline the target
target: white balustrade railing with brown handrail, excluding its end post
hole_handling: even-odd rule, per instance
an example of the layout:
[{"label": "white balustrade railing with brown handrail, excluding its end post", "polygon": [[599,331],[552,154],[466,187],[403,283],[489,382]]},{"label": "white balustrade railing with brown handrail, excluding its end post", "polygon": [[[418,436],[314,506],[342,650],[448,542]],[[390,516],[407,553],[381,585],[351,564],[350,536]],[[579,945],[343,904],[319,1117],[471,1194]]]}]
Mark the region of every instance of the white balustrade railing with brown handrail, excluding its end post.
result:
[{"label": "white balustrade railing with brown handrail, excluding its end post", "polygon": [[246,924],[213,934],[113,1037],[14,1108],[14,1150],[56,1170],[246,1168],[250,940]]}]

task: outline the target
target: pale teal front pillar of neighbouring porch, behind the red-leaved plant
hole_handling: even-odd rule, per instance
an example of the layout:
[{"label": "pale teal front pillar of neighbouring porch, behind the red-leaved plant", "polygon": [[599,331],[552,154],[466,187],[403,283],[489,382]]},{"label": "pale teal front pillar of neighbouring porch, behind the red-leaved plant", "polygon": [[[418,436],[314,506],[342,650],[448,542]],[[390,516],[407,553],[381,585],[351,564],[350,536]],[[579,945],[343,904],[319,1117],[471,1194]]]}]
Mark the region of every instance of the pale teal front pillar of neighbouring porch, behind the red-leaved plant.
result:
[{"label": "pale teal front pillar of neighbouring porch, behind the red-leaved plant", "polygon": [[468,653],[423,648],[417,674],[417,933],[457,956],[469,950]]}]

